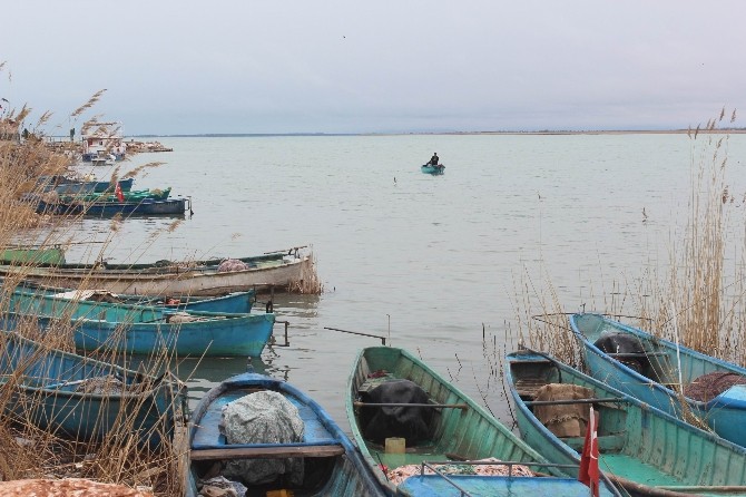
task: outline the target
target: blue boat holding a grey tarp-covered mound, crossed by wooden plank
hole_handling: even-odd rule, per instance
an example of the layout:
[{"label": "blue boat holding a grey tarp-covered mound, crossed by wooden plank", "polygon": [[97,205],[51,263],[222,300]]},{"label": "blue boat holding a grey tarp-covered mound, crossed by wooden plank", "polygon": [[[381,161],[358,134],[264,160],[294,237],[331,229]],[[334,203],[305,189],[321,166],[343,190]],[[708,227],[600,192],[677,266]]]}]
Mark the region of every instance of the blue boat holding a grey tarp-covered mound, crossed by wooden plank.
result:
[{"label": "blue boat holding a grey tarp-covered mound, crossed by wooden plank", "polygon": [[[298,410],[304,435],[292,444],[227,444],[218,428],[223,408],[257,391],[283,396]],[[239,459],[303,458],[302,475],[285,475],[262,485],[248,485],[246,495],[283,496],[383,496],[360,451],[328,413],[292,384],[267,376],[244,373],[209,390],[192,413],[189,429],[190,471],[188,497],[197,495],[197,484],[216,462]],[[296,478],[294,478],[296,477]],[[301,479],[301,481],[291,483]]]}]

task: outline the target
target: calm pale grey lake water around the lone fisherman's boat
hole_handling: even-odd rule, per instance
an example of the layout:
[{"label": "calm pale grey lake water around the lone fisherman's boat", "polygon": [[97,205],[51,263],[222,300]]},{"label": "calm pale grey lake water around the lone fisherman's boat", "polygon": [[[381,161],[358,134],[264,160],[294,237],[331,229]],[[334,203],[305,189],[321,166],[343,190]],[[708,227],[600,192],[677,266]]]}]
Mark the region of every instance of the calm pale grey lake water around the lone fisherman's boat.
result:
[{"label": "calm pale grey lake water around the lone fisherman's boat", "polygon": [[[518,313],[539,312],[526,310],[524,296],[550,282],[566,311],[602,310],[615,282],[665,267],[686,221],[691,164],[708,154],[707,137],[686,134],[158,139],[174,152],[134,156],[121,173],[163,162],[135,188],[170,186],[192,197],[194,215],[175,227],[174,218],[126,220],[115,235],[110,221],[84,220],[70,226],[77,241],[114,240],[73,245],[68,260],[311,245],[324,292],[276,299],[291,344],[267,349],[255,366],[308,391],[343,426],[354,357],[380,341],[325,328],[390,337],[510,422],[490,371],[517,344],[507,337],[519,330]],[[732,136],[726,149],[740,183],[734,193],[743,192],[746,137]],[[420,172],[433,152],[443,176]],[[187,360],[178,369],[194,405],[246,363]]]}]

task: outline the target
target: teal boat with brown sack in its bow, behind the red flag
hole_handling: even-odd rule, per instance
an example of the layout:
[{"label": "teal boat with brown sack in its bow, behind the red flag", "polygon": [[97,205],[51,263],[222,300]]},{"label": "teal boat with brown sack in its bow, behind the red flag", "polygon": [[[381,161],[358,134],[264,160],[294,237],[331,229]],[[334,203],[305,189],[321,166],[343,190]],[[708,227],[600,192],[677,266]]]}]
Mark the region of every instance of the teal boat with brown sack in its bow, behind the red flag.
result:
[{"label": "teal boat with brown sack in its bow, behind the red flag", "polygon": [[553,462],[580,460],[592,405],[599,469],[629,494],[746,495],[746,449],[549,355],[508,354],[505,383],[523,440]]}]

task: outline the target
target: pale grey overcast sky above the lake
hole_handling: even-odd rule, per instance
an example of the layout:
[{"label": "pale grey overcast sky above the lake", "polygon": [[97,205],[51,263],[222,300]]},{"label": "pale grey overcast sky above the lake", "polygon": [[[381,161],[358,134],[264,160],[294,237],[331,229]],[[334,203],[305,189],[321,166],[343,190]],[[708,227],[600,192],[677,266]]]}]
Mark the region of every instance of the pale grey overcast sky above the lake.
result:
[{"label": "pale grey overcast sky above the lake", "polygon": [[63,133],[686,128],[746,98],[740,0],[23,0],[0,19],[0,97]]}]

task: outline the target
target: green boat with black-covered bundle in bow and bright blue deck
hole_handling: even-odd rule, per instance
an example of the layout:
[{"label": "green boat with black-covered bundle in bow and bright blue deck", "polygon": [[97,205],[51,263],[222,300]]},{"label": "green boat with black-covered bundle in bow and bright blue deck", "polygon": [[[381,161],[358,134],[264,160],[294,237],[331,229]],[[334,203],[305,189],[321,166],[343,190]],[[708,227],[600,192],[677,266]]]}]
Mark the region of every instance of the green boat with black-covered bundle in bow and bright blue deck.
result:
[{"label": "green boat with black-covered bundle in bow and bright blue deck", "polygon": [[[386,403],[374,402],[376,387],[392,380],[410,380],[426,393],[426,402]],[[445,381],[435,371],[403,349],[372,347],[357,355],[347,381],[346,413],[355,442],[363,457],[373,468],[379,483],[391,495],[403,496],[499,496],[510,494],[511,488],[532,488],[537,495],[587,496],[588,487],[569,476],[568,468],[556,467],[538,451],[519,439],[511,430],[490,416],[482,407]],[[385,411],[383,411],[385,409]],[[411,410],[415,409],[415,410]],[[418,410],[419,409],[419,410]],[[390,437],[386,442],[373,441],[371,427],[379,411],[394,416],[410,417],[426,422],[424,438]],[[376,436],[382,433],[376,433]],[[383,433],[385,435],[385,433]],[[402,433],[400,433],[402,435]],[[421,433],[422,435],[422,433]],[[402,440],[402,438],[404,440]],[[397,441],[400,450],[393,450]],[[404,452],[401,452],[403,441]],[[471,461],[497,458],[512,468],[512,464],[529,466],[531,470],[552,475],[551,477],[480,476],[467,475],[478,466]],[[418,475],[410,476],[399,487],[394,486],[381,469],[389,474],[408,465],[445,462],[458,465],[462,475]],[[500,465],[497,461],[491,464]],[[577,462],[573,462],[577,469]],[[520,480],[520,481],[519,481]],[[452,485],[452,484],[455,484]],[[601,495],[617,495],[616,489],[605,484]]]}]

